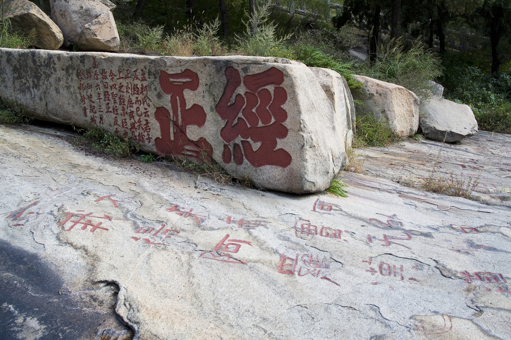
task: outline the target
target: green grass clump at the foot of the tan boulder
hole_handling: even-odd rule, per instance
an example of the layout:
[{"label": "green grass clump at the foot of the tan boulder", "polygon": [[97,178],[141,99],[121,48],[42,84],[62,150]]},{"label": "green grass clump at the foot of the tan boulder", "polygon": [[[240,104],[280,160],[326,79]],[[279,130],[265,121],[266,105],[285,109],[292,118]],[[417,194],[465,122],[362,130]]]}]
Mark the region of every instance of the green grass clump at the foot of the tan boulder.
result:
[{"label": "green grass clump at the foot of the tan boulder", "polygon": [[370,115],[357,117],[356,127],[354,148],[386,147],[400,140],[387,124]]}]

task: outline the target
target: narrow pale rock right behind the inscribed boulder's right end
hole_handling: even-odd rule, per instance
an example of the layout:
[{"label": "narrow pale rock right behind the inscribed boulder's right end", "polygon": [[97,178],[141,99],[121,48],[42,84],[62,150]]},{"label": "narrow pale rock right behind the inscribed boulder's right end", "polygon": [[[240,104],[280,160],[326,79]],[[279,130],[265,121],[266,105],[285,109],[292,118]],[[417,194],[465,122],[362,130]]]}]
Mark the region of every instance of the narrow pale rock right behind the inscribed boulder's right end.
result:
[{"label": "narrow pale rock right behind the inscribed boulder's right end", "polygon": [[[355,115],[355,111],[352,111],[350,105],[351,92],[347,87],[346,80],[336,71],[328,68],[310,67],[310,69],[314,72],[319,85],[321,85],[334,107],[334,128],[340,129],[339,133],[343,136],[342,143],[346,150],[351,149],[353,142],[352,126],[355,125],[354,122],[352,123],[352,112]],[[351,101],[353,102],[353,99]],[[341,142],[341,140],[338,142]]]}]

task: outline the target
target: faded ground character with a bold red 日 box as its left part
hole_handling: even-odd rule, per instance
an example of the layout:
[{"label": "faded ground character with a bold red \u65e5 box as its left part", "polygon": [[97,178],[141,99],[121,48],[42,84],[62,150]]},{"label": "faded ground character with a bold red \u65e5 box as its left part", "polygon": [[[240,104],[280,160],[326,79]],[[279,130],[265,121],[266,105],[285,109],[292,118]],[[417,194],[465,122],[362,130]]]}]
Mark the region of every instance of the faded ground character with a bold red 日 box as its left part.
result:
[{"label": "faded ground character with a bold red \u65e5 box as its left part", "polygon": [[326,276],[330,271],[330,262],[326,257],[320,258],[319,255],[301,253],[293,248],[286,248],[281,254],[281,262],[278,264],[277,271],[280,274],[296,276],[311,275],[339,285]]}]

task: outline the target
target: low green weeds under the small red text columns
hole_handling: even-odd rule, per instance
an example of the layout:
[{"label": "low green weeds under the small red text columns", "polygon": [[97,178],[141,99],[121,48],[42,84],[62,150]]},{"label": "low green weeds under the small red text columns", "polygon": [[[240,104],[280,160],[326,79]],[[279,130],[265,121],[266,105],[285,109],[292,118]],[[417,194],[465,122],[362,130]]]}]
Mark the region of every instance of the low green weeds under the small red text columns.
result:
[{"label": "low green weeds under the small red text columns", "polygon": [[[79,130],[80,131],[80,130]],[[121,138],[98,127],[88,129],[75,143],[84,142],[96,150],[119,158],[129,157],[138,152],[138,144],[128,136]]]}]

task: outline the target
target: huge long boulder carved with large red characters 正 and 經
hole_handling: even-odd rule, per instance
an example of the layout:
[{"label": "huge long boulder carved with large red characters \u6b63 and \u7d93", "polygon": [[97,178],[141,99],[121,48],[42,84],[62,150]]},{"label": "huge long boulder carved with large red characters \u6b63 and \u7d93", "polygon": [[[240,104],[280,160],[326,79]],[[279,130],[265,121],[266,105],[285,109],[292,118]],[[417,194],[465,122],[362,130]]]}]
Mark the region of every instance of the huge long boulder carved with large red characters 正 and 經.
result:
[{"label": "huge long boulder carved with large red characters \u6b63 and \u7d93", "polygon": [[298,62],[1,49],[0,64],[0,98],[39,119],[131,135],[159,155],[212,157],[262,188],[322,191],[346,162],[345,127]]}]

